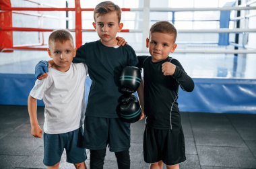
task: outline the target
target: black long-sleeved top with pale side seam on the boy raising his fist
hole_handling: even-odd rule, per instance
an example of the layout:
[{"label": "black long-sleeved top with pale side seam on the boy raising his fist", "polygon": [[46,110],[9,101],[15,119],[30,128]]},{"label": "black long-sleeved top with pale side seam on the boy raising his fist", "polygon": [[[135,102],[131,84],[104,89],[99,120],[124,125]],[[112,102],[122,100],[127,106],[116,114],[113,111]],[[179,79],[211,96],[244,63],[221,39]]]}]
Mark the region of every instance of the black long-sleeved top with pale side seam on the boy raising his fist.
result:
[{"label": "black long-sleeved top with pale side seam on the boy raising his fist", "polygon": [[[181,126],[177,103],[179,86],[184,91],[193,91],[194,82],[184,71],[181,63],[170,57],[152,62],[151,56],[138,56],[139,68],[143,68],[144,106],[147,125],[156,129],[173,129]],[[176,65],[172,76],[164,76],[162,64]]]}]

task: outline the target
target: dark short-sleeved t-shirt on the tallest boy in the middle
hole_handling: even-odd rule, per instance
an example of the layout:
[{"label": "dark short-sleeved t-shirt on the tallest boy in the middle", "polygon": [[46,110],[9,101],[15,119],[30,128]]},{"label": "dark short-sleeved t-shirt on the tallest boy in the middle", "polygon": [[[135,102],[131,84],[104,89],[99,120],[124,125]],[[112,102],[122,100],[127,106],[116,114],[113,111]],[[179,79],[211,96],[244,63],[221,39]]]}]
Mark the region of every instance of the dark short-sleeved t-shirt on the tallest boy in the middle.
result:
[{"label": "dark short-sleeved t-shirt on the tallest boy in the middle", "polygon": [[129,45],[118,48],[104,46],[100,40],[86,43],[77,49],[73,62],[84,62],[92,79],[87,116],[118,117],[119,76],[125,66],[137,66],[137,56]]}]

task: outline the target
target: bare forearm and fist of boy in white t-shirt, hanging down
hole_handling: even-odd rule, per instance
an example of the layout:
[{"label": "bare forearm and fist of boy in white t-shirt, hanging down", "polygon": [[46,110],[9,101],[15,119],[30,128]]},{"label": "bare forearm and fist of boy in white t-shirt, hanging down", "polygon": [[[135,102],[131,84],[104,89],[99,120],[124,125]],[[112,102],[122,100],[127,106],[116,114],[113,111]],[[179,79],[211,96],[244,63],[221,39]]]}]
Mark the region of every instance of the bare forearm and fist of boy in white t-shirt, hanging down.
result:
[{"label": "bare forearm and fist of boy in white t-shirt, hanging down", "polygon": [[42,137],[42,129],[38,124],[37,119],[37,100],[34,99],[32,96],[28,96],[28,114],[30,116],[30,125],[31,125],[31,134],[34,137]]}]

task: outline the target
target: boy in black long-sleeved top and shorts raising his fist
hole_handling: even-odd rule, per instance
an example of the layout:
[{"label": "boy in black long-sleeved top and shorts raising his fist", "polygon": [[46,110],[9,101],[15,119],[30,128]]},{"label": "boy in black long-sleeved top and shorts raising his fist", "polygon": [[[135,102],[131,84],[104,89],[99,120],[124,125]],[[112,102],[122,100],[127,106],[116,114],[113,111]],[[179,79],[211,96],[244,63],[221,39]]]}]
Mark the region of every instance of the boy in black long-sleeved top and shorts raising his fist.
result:
[{"label": "boy in black long-sleeved top and shorts raising his fist", "polygon": [[177,30],[168,21],[152,25],[147,48],[151,56],[138,56],[143,68],[146,128],[143,155],[150,168],[177,169],[186,160],[185,141],[177,103],[179,86],[194,89],[193,80],[181,63],[168,55],[177,48]]}]

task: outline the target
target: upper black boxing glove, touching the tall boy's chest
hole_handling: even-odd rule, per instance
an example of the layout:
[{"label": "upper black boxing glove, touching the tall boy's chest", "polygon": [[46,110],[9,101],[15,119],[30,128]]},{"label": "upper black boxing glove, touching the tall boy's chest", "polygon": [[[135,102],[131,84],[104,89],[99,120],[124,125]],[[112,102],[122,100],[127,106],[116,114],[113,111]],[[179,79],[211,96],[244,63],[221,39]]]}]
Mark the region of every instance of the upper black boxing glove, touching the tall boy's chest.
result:
[{"label": "upper black boxing glove, touching the tall boy's chest", "polygon": [[119,91],[121,93],[135,93],[141,82],[141,74],[139,68],[135,66],[127,66],[123,69],[120,80]]}]

